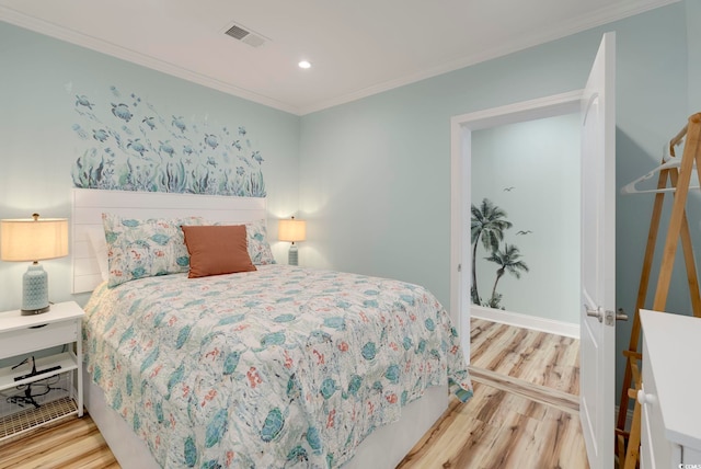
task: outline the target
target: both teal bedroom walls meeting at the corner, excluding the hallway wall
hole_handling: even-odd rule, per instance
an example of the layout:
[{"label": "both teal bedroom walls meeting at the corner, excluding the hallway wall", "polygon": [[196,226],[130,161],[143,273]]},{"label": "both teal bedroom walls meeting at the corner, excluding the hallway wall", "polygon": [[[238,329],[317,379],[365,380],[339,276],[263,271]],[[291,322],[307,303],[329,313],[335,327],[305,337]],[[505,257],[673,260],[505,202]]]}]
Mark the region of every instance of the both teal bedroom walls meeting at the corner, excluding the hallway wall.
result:
[{"label": "both teal bedroom walls meeting at the corner, excluding the hallway wall", "polygon": [[[70,129],[73,90],[114,84],[165,114],[173,106],[244,125],[265,158],[271,219],[296,211],[308,219],[302,264],[424,284],[449,307],[450,117],[583,88],[602,33],[616,31],[622,186],[653,169],[664,142],[701,107],[692,85],[701,79],[699,10],[697,0],[674,3],[301,118],[0,23],[0,218],[70,216],[70,171],[82,151]],[[617,199],[617,296],[629,311],[651,205],[645,196]],[[699,227],[701,214],[689,217]],[[285,245],[274,250],[285,259]],[[0,263],[0,310],[19,307],[25,268]],[[70,260],[46,268],[51,299],[71,299]],[[687,311],[687,298],[677,272],[668,309]]]}]

